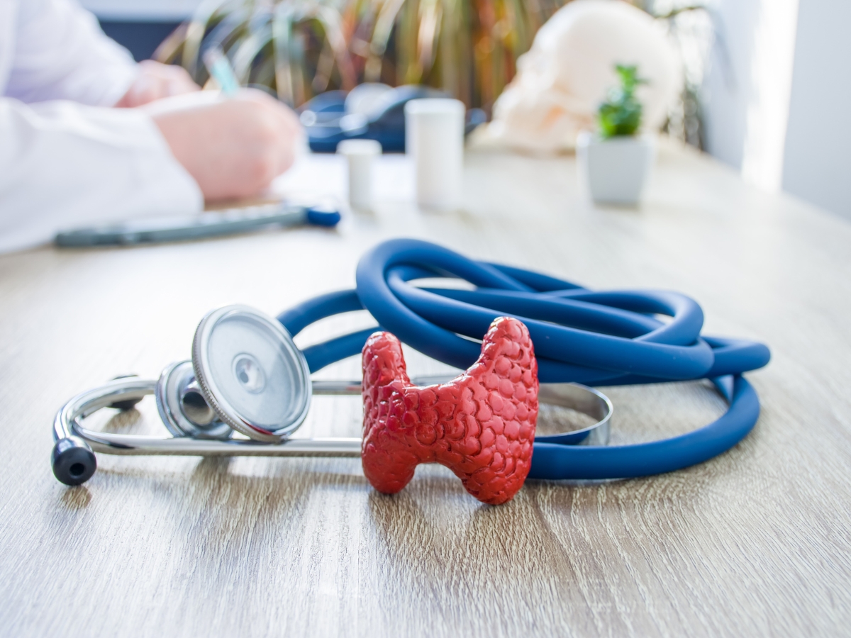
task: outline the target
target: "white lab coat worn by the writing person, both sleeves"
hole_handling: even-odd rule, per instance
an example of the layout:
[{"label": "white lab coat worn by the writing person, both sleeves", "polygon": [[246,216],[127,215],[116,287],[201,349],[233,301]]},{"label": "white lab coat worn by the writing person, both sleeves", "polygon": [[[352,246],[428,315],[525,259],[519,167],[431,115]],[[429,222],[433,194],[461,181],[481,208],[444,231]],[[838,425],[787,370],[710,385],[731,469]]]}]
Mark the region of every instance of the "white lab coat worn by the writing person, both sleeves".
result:
[{"label": "white lab coat worn by the writing person, both sleeves", "polygon": [[109,108],[136,66],[74,2],[0,0],[0,252],[203,208],[151,117]]}]

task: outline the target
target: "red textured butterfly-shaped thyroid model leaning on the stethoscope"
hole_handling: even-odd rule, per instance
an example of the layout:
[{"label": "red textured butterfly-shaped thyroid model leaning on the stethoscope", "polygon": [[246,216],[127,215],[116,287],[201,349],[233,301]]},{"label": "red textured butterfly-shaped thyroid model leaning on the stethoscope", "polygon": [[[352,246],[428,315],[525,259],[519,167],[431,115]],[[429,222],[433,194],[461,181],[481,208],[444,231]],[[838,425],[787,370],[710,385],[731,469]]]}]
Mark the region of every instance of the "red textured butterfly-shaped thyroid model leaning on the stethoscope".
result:
[{"label": "red textured butterfly-shaped thyroid model leaning on the stethoscope", "polygon": [[412,385],[391,333],[363,346],[363,473],[379,492],[439,463],[483,503],[505,503],[528,475],[537,419],[538,363],[517,319],[494,320],[478,361],[444,385]]}]

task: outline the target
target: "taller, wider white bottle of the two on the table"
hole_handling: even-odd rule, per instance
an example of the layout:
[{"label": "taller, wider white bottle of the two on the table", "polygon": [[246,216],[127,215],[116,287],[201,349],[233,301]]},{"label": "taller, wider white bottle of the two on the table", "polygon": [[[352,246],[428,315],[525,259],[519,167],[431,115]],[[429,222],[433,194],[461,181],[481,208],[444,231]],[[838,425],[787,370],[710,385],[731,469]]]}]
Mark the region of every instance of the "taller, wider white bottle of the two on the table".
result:
[{"label": "taller, wider white bottle of the two on the table", "polygon": [[460,207],[464,185],[464,103],[428,98],[405,105],[405,151],[414,160],[417,203]]}]

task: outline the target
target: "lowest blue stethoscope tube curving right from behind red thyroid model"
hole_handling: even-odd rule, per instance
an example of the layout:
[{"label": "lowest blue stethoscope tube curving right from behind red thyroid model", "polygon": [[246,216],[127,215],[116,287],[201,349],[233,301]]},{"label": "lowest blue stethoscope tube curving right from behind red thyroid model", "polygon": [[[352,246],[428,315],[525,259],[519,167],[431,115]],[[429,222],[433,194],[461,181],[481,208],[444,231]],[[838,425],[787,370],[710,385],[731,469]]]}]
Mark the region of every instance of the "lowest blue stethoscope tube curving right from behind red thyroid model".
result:
[{"label": "lowest blue stethoscope tube curving right from behind red thyroid model", "polygon": [[[725,394],[717,379],[718,389]],[[635,445],[575,448],[535,441],[532,479],[634,478],[682,470],[726,452],[759,418],[757,392],[744,377],[733,378],[733,396],[720,419],[681,436]]]}]

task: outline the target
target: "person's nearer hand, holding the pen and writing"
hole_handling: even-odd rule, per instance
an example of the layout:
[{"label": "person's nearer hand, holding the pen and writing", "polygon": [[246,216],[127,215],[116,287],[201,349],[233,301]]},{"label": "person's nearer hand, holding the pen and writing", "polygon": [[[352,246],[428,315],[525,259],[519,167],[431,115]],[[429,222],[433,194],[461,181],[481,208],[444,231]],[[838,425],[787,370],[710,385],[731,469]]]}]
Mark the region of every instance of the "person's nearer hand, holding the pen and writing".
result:
[{"label": "person's nearer hand, holding the pen and writing", "polygon": [[303,134],[298,117],[254,89],[228,100],[209,94],[161,100],[146,111],[204,199],[258,195],[292,166]]}]

